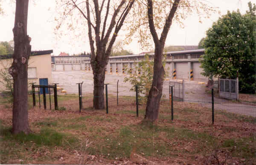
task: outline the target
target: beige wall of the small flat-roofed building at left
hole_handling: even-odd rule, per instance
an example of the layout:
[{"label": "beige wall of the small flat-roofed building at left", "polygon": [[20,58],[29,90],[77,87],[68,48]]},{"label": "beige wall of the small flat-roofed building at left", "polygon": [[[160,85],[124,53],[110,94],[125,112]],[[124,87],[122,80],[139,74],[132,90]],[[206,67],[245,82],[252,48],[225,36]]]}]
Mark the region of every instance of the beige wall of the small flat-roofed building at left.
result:
[{"label": "beige wall of the small flat-roofed building at left", "polygon": [[[12,59],[0,60],[0,70],[3,68],[9,68],[12,64]],[[29,66],[36,68],[36,78],[29,78],[29,83],[35,82],[39,84],[39,78],[48,78],[48,84],[52,83],[52,67],[51,67],[51,55],[38,55],[29,57]],[[1,81],[1,77],[0,77]],[[0,91],[4,89],[2,83],[0,83]]]}]

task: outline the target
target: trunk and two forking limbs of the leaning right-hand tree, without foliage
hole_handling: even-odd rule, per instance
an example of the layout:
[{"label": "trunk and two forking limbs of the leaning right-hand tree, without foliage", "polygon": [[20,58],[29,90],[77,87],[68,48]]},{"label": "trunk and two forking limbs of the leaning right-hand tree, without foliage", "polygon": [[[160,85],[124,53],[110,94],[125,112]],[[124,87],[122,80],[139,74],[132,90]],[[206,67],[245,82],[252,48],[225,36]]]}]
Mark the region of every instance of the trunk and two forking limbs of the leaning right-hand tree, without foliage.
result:
[{"label": "trunk and two forking limbs of the leaning right-hand tree, without foliage", "polygon": [[160,100],[163,92],[163,78],[164,78],[164,68],[163,68],[163,48],[165,45],[166,37],[169,32],[170,26],[172,25],[172,19],[177,10],[180,0],[175,0],[168,17],[166,18],[163,31],[161,33],[160,39],[158,39],[157,31],[154,27],[154,13],[153,13],[153,1],[148,0],[148,25],[150,28],[151,35],[154,40],[155,50],[154,50],[154,72],[153,72],[153,81],[151,89],[149,90],[147,107],[144,120],[150,120],[154,122],[158,118]]}]

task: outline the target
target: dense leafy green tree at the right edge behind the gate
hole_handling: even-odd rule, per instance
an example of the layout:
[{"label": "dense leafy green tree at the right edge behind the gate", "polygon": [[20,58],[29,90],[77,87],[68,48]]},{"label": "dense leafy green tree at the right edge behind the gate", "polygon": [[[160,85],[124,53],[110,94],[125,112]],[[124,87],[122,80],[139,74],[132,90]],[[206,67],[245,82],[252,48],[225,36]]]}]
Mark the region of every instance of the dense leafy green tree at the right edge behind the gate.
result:
[{"label": "dense leafy green tree at the right edge behind the gate", "polygon": [[207,31],[201,73],[212,78],[239,77],[239,91],[256,91],[256,6],[242,15],[230,11]]}]

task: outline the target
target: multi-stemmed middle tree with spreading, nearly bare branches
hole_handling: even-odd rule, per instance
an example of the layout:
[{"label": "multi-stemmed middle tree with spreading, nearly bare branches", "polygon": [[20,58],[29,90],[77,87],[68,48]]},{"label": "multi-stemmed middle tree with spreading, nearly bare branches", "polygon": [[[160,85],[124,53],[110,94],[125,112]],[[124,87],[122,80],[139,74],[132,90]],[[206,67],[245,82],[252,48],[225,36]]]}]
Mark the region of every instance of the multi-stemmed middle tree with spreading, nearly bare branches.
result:
[{"label": "multi-stemmed middle tree with spreading, nearly bare branches", "polygon": [[[93,69],[93,107],[104,109],[105,67],[113,43],[135,0],[61,0],[62,19],[72,16],[74,10],[87,21]],[[56,1],[57,2],[57,1]],[[57,2],[58,3],[58,2]],[[61,25],[62,20],[59,22]],[[94,33],[93,33],[94,32]]]}]

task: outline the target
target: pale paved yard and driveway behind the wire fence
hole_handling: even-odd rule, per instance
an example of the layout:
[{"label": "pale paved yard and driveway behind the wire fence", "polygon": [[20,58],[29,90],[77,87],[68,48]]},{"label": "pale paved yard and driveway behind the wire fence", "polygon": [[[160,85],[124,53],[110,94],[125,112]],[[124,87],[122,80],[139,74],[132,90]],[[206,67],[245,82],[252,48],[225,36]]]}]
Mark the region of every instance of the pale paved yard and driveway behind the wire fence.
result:
[{"label": "pale paved yard and driveway behind the wire fence", "polygon": [[[119,80],[119,95],[135,96],[135,92],[131,92],[132,85],[128,82],[123,82],[125,76],[122,74],[109,75],[105,77],[105,83],[108,85],[108,93],[116,95],[116,83]],[[64,88],[68,94],[78,94],[78,85],[76,83],[84,81],[82,85],[83,94],[93,93],[93,74],[85,71],[61,71],[52,72],[52,82],[59,83],[61,88]],[[179,80],[177,80],[179,81]],[[206,83],[206,82],[204,82]],[[175,89],[177,92],[177,89]],[[185,101],[201,103],[205,107],[211,108],[212,98],[210,93],[206,93],[205,84],[198,81],[185,81]],[[169,95],[169,80],[164,81],[163,95],[168,98]],[[256,106],[234,103],[227,99],[214,98],[215,109],[225,110],[227,112],[238,113],[240,115],[248,115],[256,117]]]}]

